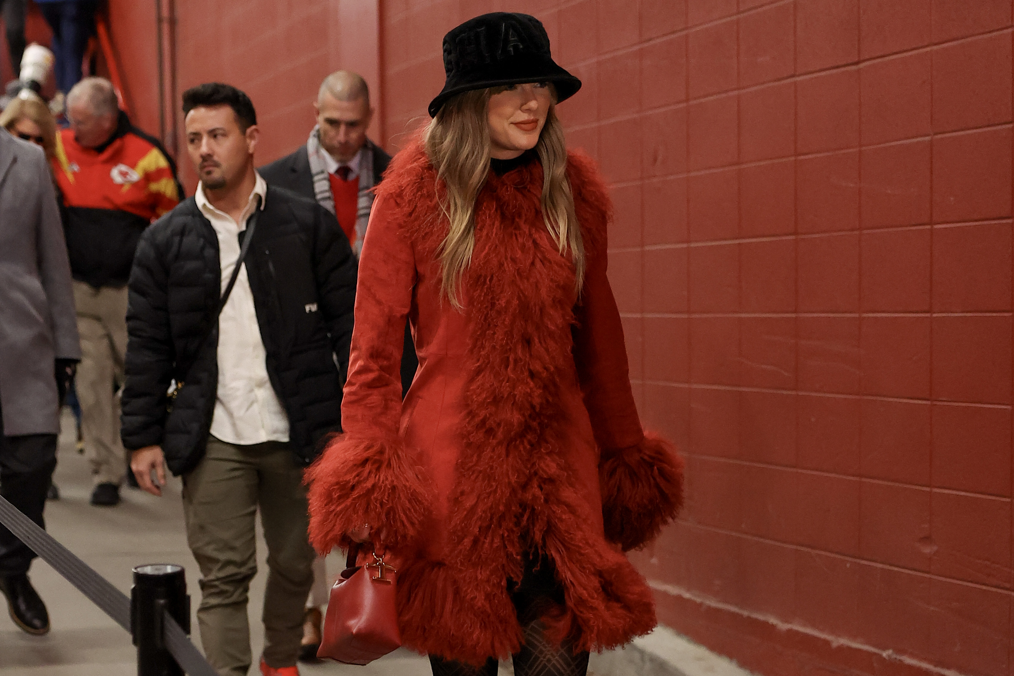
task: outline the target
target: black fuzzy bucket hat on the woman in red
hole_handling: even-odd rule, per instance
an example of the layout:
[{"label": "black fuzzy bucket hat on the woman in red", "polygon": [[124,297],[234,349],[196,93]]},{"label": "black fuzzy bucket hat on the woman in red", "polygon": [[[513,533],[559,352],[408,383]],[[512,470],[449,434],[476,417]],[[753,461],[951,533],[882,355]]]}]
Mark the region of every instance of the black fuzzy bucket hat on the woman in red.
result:
[{"label": "black fuzzy bucket hat on the woman in red", "polygon": [[430,102],[430,117],[462,91],[525,82],[552,82],[557,101],[570,98],[581,80],[550,56],[550,36],[528,14],[493,12],[468,19],[444,35],[443,90]]}]

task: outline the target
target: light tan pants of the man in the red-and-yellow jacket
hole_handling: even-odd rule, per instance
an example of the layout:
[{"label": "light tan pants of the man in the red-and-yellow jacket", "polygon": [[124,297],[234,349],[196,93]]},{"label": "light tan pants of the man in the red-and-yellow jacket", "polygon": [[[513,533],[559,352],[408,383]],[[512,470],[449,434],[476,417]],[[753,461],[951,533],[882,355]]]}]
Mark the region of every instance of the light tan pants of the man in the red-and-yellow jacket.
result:
[{"label": "light tan pants of the man in the red-and-yellow jacket", "polygon": [[127,453],[120,440],[120,396],[127,354],[127,288],[95,289],[74,281],[81,363],[74,383],[81,402],[81,437],[95,483],[120,485]]}]

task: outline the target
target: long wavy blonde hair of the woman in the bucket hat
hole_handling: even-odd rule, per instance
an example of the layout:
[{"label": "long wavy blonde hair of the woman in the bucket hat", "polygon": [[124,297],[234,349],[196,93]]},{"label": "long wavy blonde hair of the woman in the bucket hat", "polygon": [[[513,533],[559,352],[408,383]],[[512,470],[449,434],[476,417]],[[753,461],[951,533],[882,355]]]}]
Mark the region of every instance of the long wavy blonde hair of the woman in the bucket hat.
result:
[{"label": "long wavy blonde hair of the woman in the bucket hat", "polygon": [[[447,218],[447,236],[440,244],[443,268],[441,289],[451,305],[460,309],[458,287],[472,262],[476,246],[476,200],[490,170],[490,128],[487,106],[490,96],[506,87],[466,91],[444,103],[424,134],[426,154],[442,181],[445,194],[440,209]],[[564,129],[556,114],[556,92],[546,125],[535,145],[542,164],[542,220],[559,247],[570,252],[577,276],[577,290],[584,281],[584,245],[574,211],[574,196],[567,179],[567,146]]]}]

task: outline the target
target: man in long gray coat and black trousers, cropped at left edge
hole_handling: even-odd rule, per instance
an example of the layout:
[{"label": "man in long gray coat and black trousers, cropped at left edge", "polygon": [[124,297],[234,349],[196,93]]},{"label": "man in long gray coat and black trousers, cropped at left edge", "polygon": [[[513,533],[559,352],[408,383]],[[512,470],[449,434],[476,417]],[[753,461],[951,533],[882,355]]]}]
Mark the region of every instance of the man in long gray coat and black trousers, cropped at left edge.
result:
[{"label": "man in long gray coat and black trousers, cropped at left edge", "polygon": [[[81,358],[53,178],[41,148],[0,130],[0,495],[43,526],[60,397]],[[28,633],[50,629],[35,553],[0,526],[0,592]]]}]

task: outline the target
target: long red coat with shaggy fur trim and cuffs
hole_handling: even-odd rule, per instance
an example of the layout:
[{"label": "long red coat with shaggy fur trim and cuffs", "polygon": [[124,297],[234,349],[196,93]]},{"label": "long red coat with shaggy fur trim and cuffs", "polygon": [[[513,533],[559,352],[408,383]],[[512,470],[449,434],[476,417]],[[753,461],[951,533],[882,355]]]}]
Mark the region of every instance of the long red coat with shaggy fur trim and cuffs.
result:
[{"label": "long red coat with shaggy fur trim and cuffs", "polygon": [[[490,172],[476,208],[463,311],[441,299],[446,234],[418,142],[377,190],[359,265],[344,435],[307,472],[310,539],[349,543],[369,523],[399,568],[403,640],[482,663],[519,649],[507,591],[526,551],[550,555],[565,607],[546,619],[579,650],[655,625],[651,592],[623,551],[679,507],[682,464],[646,437],[606,279],[606,190],[588,158],[568,176],[587,255],[574,266],[547,231],[539,163]],[[412,322],[419,371],[399,365]]]}]

